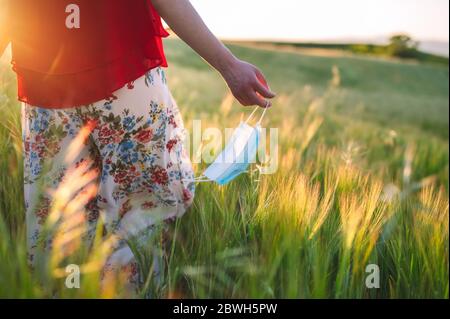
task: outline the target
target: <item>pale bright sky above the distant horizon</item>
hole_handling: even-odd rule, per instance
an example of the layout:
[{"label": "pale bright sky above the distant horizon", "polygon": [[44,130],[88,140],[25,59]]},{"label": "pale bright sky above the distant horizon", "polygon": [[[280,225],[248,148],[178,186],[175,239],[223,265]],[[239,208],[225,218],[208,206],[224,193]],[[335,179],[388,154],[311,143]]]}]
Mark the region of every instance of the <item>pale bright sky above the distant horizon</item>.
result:
[{"label": "pale bright sky above the distant horizon", "polygon": [[449,0],[191,0],[226,39],[449,40]]}]

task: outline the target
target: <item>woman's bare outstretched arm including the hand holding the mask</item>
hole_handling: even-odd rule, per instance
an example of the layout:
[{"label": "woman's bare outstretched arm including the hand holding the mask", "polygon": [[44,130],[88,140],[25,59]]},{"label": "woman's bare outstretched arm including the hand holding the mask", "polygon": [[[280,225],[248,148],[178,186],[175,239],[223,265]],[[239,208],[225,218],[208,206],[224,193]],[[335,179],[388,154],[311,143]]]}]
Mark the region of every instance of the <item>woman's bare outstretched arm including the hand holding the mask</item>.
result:
[{"label": "woman's bare outstretched arm including the hand holding the mask", "polygon": [[227,82],[236,99],[245,106],[270,106],[275,97],[264,75],[255,66],[240,61],[208,29],[189,0],[151,0],[172,30]]}]

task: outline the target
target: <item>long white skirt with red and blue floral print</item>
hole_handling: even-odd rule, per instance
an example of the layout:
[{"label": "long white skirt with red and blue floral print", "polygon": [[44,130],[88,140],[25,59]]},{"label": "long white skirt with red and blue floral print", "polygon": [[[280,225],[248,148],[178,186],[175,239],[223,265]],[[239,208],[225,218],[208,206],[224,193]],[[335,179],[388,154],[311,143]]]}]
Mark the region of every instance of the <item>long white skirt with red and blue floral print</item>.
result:
[{"label": "long white skirt with red and blue floral print", "polygon": [[[51,194],[73,166],[91,163],[98,171],[96,196],[85,206],[91,234],[102,219],[107,232],[126,241],[183,215],[192,203],[185,130],[162,68],[91,105],[45,109],[23,104],[22,129],[31,262],[54,201]],[[86,139],[74,150],[73,141],[86,130]],[[44,246],[50,247],[51,240]],[[125,246],[115,256],[123,264],[132,259]]]}]

